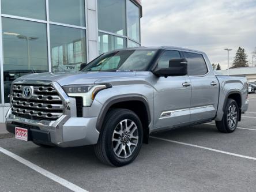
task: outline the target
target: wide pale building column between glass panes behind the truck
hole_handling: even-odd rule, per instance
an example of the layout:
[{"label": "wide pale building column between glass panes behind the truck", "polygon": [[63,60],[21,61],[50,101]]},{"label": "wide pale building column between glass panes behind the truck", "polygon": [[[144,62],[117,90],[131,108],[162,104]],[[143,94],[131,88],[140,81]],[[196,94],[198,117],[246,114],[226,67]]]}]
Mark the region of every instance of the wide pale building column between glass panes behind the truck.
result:
[{"label": "wide pale building column between glass panes behind the truck", "polygon": [[90,62],[99,55],[97,0],[87,0],[86,3],[87,61]]}]

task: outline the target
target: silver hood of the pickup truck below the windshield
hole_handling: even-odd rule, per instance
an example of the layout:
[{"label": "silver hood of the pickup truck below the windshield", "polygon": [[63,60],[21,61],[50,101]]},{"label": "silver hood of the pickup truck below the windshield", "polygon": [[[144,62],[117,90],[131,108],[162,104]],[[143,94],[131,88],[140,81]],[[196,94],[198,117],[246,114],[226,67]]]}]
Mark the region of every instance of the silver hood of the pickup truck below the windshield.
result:
[{"label": "silver hood of the pickup truck below the windshield", "polygon": [[57,81],[59,85],[95,84],[98,80],[112,78],[127,78],[135,76],[135,71],[127,72],[61,72],[61,73],[33,73],[22,76],[17,80]]}]

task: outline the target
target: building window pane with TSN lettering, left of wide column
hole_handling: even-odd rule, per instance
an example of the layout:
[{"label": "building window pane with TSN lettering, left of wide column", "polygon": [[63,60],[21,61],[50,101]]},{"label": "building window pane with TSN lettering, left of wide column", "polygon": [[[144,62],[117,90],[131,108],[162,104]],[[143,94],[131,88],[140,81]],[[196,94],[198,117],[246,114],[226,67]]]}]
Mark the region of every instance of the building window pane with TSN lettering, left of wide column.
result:
[{"label": "building window pane with TSN lettering, left of wide column", "polygon": [[50,25],[52,71],[78,71],[86,62],[85,30]]}]

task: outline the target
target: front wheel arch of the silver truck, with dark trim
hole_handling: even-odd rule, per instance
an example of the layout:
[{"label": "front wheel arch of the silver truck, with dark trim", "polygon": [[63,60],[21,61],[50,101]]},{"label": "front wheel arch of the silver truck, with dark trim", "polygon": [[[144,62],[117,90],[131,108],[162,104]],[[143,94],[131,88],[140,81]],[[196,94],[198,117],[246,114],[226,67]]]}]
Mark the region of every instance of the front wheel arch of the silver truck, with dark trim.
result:
[{"label": "front wheel arch of the silver truck, with dark trim", "polygon": [[151,122],[151,115],[149,104],[146,98],[142,95],[137,94],[127,94],[121,96],[111,97],[106,101],[106,103],[101,108],[99,117],[96,123],[96,129],[100,132],[101,127],[103,126],[104,119],[107,115],[107,112],[111,108],[126,108],[129,109],[141,119],[141,123],[144,129],[144,143],[148,143],[149,140],[149,125]]}]

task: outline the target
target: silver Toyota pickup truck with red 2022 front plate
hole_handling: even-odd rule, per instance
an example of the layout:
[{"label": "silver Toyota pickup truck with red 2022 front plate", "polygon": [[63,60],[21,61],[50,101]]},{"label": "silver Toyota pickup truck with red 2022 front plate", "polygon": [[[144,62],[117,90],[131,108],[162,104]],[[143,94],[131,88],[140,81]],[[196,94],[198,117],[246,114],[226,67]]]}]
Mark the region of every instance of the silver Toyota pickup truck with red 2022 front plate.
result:
[{"label": "silver Toyota pickup truck with red 2022 front plate", "polygon": [[94,145],[99,160],[122,166],[156,131],[215,121],[231,133],[248,108],[246,77],[214,74],[201,51],[127,48],[83,67],[15,80],[7,130],[43,147]]}]

